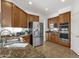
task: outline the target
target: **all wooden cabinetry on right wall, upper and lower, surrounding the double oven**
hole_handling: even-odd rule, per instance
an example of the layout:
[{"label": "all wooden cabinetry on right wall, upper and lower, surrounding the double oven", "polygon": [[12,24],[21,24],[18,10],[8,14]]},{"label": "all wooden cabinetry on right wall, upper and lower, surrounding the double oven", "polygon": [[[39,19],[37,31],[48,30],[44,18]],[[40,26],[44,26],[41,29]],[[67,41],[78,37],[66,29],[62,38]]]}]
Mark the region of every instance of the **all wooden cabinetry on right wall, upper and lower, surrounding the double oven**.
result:
[{"label": "all wooden cabinetry on right wall, upper and lower, surrounding the double oven", "polygon": [[[66,12],[66,13],[63,13],[63,14],[60,14],[59,16],[57,17],[53,17],[53,18],[49,18],[48,19],[48,28],[50,29],[50,24],[56,24],[57,27],[60,29],[60,24],[63,24],[63,23],[68,23],[68,40],[70,41],[71,40],[71,12]],[[50,33],[50,31],[49,31]],[[66,46],[66,47],[70,47],[70,42],[63,42],[63,40],[59,37],[60,35],[60,32],[58,31],[58,34],[55,35],[55,33],[50,33],[49,37],[48,37],[48,40],[51,41],[51,42],[55,42],[57,44],[60,44],[60,45],[63,45],[63,46]]]}]

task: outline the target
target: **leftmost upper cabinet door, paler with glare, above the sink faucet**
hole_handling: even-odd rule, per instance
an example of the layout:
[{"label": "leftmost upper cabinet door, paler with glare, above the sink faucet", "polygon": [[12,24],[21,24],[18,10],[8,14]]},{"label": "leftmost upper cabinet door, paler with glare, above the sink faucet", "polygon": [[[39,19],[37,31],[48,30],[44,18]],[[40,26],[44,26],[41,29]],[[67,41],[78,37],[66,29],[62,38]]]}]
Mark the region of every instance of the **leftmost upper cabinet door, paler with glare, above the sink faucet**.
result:
[{"label": "leftmost upper cabinet door, paler with glare, above the sink faucet", "polygon": [[2,6],[2,26],[10,27],[12,19],[12,3],[1,0]]}]

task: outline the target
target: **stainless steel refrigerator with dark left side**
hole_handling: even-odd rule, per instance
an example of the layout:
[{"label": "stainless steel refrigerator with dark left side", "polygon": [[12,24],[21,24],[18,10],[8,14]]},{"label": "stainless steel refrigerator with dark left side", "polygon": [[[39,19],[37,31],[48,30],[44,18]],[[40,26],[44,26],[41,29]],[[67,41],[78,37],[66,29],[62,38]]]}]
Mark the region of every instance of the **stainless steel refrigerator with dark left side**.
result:
[{"label": "stainless steel refrigerator with dark left side", "polygon": [[43,45],[43,23],[30,22],[31,44],[36,47]]}]

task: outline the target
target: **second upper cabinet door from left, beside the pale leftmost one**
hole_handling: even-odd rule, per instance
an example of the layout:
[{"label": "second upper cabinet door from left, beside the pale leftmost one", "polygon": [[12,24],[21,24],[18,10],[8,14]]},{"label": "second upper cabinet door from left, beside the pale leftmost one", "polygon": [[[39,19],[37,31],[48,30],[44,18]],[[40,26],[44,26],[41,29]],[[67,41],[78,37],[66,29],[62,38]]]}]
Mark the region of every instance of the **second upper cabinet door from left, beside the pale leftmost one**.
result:
[{"label": "second upper cabinet door from left, beside the pale leftmost one", "polygon": [[19,20],[20,20],[20,9],[13,5],[13,15],[12,15],[12,27],[20,27]]}]

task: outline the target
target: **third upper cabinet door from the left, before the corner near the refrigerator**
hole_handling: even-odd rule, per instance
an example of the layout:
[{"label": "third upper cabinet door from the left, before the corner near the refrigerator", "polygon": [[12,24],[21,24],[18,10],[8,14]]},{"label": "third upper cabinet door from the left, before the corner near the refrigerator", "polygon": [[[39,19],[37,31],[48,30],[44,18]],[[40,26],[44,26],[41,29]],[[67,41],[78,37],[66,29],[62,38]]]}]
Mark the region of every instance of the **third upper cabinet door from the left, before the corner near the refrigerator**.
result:
[{"label": "third upper cabinet door from the left, before the corner near the refrigerator", "polygon": [[26,28],[27,27],[27,14],[24,12],[24,11],[22,11],[22,10],[20,10],[20,27],[24,27],[24,28]]}]

